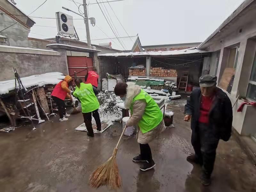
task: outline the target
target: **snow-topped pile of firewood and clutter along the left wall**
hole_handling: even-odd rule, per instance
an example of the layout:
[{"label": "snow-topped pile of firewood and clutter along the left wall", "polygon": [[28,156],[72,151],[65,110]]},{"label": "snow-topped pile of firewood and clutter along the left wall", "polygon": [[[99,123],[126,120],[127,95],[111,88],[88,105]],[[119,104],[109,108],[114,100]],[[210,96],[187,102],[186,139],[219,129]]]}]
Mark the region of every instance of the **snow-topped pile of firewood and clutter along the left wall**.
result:
[{"label": "snow-topped pile of firewood and clutter along the left wall", "polygon": [[[59,72],[22,78],[17,71],[14,74],[15,79],[0,82],[0,116],[7,115],[12,127],[17,126],[17,120],[30,121],[32,124],[32,120],[43,123],[45,120],[41,117],[49,120],[49,114],[57,110],[50,94],[65,76]],[[7,132],[10,130],[14,129],[4,129]]]}]

